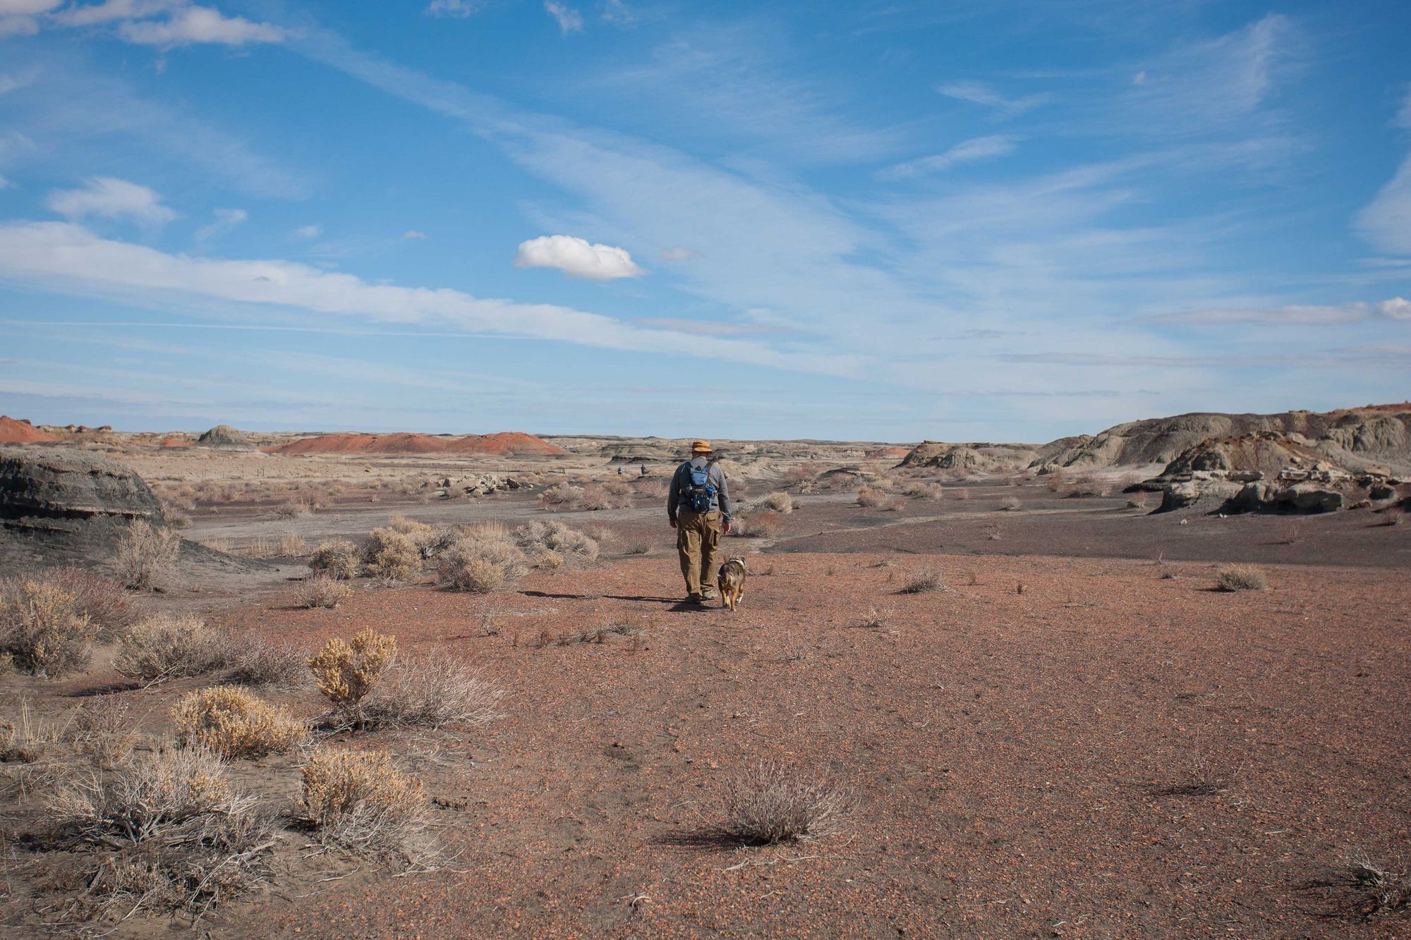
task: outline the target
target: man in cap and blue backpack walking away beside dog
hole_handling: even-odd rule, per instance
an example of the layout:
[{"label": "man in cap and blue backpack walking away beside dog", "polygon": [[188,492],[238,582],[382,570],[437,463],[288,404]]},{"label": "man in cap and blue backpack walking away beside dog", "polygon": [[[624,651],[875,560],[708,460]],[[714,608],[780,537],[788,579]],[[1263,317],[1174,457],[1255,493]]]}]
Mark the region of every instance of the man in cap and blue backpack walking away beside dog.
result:
[{"label": "man in cap and blue backpack walking away beside dog", "polygon": [[672,476],[666,518],[676,529],[686,603],[704,603],[715,596],[715,549],[729,535],[729,490],[708,440],[691,442],[691,459]]}]

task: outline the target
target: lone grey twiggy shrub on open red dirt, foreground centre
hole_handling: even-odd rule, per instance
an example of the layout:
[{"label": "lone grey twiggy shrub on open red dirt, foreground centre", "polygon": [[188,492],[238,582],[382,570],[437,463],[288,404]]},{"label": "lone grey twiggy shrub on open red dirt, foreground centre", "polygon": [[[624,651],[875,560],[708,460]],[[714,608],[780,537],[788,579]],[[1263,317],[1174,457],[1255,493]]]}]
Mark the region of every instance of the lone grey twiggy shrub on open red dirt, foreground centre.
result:
[{"label": "lone grey twiggy shrub on open red dirt, foreground centre", "polygon": [[758,761],[725,785],[727,833],[751,844],[828,836],[856,807],[849,792],[799,769]]}]

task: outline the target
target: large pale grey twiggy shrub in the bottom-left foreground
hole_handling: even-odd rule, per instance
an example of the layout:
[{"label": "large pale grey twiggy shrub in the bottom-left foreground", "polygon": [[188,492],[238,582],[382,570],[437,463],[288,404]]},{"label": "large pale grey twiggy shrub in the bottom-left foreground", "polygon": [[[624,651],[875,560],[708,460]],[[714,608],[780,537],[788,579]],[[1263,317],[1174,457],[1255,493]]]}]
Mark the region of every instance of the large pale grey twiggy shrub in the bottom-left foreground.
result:
[{"label": "large pale grey twiggy shrub in the bottom-left foreground", "polygon": [[230,786],[224,762],[205,748],[157,749],[109,773],[76,776],[48,810],[100,852],[71,898],[71,920],[144,908],[200,916],[268,874],[272,820]]}]

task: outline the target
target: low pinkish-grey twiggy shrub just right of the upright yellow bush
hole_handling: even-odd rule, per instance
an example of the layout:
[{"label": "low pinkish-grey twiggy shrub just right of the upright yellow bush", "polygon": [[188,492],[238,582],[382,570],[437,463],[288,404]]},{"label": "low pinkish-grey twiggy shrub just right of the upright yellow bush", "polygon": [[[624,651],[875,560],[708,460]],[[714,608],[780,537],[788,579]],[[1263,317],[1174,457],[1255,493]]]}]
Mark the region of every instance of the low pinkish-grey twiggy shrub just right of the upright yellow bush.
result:
[{"label": "low pinkish-grey twiggy shrub just right of the upright yellow bush", "polygon": [[411,655],[396,661],[365,707],[375,724],[485,724],[499,716],[501,692],[463,663],[446,656]]}]

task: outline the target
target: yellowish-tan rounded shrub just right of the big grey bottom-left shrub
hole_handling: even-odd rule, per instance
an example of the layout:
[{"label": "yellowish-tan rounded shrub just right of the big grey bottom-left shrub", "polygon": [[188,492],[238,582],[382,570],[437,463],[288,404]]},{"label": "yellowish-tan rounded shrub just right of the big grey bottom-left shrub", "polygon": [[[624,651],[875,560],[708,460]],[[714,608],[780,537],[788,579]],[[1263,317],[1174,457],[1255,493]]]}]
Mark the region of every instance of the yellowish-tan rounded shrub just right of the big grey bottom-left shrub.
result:
[{"label": "yellowish-tan rounded shrub just right of the big grey bottom-left shrub", "polygon": [[384,751],[319,748],[303,766],[299,810],[325,843],[409,855],[426,828],[422,782]]}]

